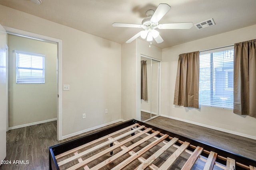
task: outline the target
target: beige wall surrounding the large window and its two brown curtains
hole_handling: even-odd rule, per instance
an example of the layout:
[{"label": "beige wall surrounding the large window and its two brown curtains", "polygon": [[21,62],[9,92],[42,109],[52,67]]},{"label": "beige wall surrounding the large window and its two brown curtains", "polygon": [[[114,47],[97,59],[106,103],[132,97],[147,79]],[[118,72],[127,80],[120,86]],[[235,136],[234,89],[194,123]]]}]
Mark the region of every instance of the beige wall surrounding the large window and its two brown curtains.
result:
[{"label": "beige wall surrounding the large window and its two brown curtains", "polygon": [[[206,28],[207,29],[207,28]],[[172,108],[178,65],[178,55],[192,51],[201,51],[234,43],[256,39],[256,25],[214,35],[204,39],[176,45],[162,50],[162,115],[229,131],[256,139],[256,118],[237,115],[230,109],[202,106],[201,109],[185,107]],[[200,30],[199,30],[200,31]]]}]

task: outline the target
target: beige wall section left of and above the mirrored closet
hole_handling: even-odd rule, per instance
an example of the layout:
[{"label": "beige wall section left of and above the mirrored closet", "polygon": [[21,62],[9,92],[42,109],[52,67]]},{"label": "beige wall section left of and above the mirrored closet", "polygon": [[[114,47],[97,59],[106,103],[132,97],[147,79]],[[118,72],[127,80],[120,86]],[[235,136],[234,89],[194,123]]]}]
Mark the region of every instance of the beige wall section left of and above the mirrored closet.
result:
[{"label": "beige wall section left of and above the mirrored closet", "polygon": [[154,45],[136,39],[122,44],[122,119],[140,120],[140,59],[146,55],[162,59],[162,50]]}]

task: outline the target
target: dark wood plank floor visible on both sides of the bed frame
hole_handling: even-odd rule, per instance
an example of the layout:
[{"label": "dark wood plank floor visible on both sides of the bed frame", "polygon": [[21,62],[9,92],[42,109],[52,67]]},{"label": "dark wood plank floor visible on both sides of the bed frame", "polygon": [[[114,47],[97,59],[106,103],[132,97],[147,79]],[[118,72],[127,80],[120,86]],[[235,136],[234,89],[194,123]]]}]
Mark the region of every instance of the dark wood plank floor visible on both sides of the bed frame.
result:
[{"label": "dark wood plank floor visible on both sides of the bed frame", "polygon": [[[256,160],[256,140],[161,116],[146,123]],[[2,164],[0,170],[48,170],[48,147],[91,132],[57,141],[56,121],[10,130],[6,133],[6,160],[12,164]],[[20,164],[13,164],[16,160]]]}]

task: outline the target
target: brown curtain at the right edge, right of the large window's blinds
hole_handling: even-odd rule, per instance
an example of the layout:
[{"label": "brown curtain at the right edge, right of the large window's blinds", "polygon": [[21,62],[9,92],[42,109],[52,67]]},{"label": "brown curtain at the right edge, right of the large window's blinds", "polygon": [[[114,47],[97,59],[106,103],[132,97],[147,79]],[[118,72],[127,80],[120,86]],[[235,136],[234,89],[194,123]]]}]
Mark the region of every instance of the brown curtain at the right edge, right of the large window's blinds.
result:
[{"label": "brown curtain at the right edge, right of the large window's blinds", "polygon": [[256,117],[256,39],[234,45],[234,113]]}]

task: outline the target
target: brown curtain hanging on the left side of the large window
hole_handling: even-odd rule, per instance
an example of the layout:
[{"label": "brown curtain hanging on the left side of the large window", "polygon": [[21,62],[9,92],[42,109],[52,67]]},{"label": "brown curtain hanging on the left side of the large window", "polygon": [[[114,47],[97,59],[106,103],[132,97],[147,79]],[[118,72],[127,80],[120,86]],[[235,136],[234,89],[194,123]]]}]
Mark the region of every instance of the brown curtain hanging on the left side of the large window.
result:
[{"label": "brown curtain hanging on the left side of the large window", "polygon": [[180,54],[176,76],[174,104],[198,108],[199,51]]}]

